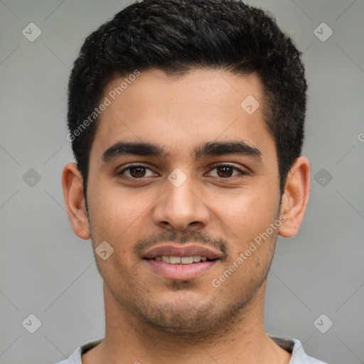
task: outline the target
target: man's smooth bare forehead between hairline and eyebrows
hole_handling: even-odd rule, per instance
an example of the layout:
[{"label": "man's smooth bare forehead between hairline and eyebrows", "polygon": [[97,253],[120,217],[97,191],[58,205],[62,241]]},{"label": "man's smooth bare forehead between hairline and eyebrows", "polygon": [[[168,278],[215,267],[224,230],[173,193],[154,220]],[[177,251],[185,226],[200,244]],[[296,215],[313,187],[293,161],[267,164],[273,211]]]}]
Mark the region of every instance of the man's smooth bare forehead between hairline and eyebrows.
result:
[{"label": "man's smooth bare forehead between hairline and eyebrows", "polygon": [[[137,73],[134,73],[134,75]],[[101,156],[119,140],[150,141],[173,157],[202,142],[244,140],[273,148],[263,115],[264,94],[255,75],[191,70],[168,76],[149,70],[109,82],[92,152]]]}]

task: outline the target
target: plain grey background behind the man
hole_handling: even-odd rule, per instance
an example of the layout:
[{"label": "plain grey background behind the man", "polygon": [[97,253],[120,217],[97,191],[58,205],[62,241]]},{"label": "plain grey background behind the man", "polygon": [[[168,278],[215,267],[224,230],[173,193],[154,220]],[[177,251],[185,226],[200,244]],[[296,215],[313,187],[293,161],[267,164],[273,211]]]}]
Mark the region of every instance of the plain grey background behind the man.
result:
[{"label": "plain grey background behind the man", "polygon": [[[272,11],[304,51],[309,82],[311,199],[299,234],[277,245],[267,332],[299,338],[328,363],[364,363],[364,1],[250,3]],[[85,36],[127,4],[0,1],[0,363],[55,363],[104,334],[102,280],[60,185],[73,160],[66,88]],[[31,22],[42,31],[33,42],[22,34]],[[326,41],[314,33],[323,22]],[[22,325],[29,314],[41,321],[35,333]],[[321,331],[333,321],[326,333],[314,325],[321,314]]]}]

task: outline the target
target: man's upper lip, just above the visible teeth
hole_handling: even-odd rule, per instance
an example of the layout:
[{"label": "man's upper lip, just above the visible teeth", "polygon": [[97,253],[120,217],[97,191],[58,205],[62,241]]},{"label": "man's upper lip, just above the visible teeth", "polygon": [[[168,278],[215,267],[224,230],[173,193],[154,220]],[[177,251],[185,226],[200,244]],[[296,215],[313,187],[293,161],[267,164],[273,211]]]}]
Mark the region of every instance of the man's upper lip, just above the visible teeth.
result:
[{"label": "man's upper lip, just above the visible teeth", "polygon": [[143,258],[152,259],[155,257],[161,257],[162,255],[173,255],[175,257],[193,257],[193,255],[200,255],[200,257],[207,257],[208,259],[219,259],[223,257],[221,252],[217,252],[210,247],[204,247],[198,244],[177,245],[168,243],[147,250],[144,253]]}]

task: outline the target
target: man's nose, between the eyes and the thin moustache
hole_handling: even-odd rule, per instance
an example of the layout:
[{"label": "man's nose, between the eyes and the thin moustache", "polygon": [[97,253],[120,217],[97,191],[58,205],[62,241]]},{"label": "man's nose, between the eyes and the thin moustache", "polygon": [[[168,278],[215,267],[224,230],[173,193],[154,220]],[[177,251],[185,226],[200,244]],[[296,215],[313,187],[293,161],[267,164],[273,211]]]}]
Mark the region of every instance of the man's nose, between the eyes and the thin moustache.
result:
[{"label": "man's nose, between the eyes and the thin moustache", "polygon": [[202,193],[193,188],[193,178],[188,177],[181,186],[166,179],[166,188],[156,200],[153,220],[161,228],[186,230],[191,226],[201,229],[208,224],[208,207]]}]

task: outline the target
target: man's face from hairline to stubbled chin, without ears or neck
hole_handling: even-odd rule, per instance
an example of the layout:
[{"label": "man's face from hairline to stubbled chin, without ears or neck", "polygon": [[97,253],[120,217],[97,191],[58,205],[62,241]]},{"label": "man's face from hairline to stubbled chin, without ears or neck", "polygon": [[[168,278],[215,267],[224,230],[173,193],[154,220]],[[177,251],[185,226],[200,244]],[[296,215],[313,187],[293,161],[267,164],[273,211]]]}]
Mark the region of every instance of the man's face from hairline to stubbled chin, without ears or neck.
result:
[{"label": "man's face from hairline to stubbled chin, without ears or neck", "polygon": [[[113,100],[123,79],[105,89],[87,184],[92,243],[114,250],[95,254],[105,294],[156,328],[205,330],[262,289],[277,240],[262,85],[254,75],[152,70]],[[260,104],[253,113],[241,106],[249,95]]]}]

